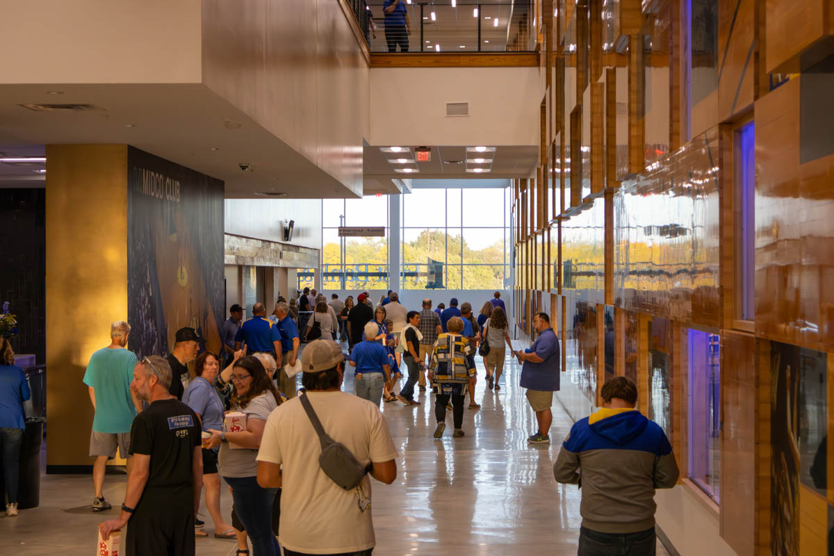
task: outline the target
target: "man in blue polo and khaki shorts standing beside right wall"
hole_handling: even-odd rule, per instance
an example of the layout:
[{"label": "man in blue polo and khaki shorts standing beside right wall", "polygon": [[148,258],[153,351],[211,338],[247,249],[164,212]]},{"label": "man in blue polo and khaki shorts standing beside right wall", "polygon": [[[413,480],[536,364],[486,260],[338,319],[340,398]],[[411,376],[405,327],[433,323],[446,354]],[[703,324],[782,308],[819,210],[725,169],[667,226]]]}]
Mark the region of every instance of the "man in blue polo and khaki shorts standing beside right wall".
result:
[{"label": "man in blue polo and khaki shorts standing beside right wall", "polygon": [[519,350],[515,356],[519,358],[521,366],[521,388],[527,388],[527,400],[535,411],[535,420],[539,423],[539,430],[527,438],[531,444],[550,443],[550,423],[553,413],[553,393],[559,390],[559,338],[553,328],[550,328],[550,317],[547,313],[536,313],[533,327],[539,333],[539,338],[530,348]]}]

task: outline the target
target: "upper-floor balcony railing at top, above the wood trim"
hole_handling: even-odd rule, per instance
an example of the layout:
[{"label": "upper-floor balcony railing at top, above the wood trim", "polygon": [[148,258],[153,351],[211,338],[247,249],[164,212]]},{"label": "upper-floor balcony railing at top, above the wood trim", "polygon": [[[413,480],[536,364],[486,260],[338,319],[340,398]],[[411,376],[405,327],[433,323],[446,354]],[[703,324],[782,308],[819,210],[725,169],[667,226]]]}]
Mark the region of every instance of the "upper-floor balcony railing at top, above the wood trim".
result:
[{"label": "upper-floor balcony railing at top, above the wood trim", "polygon": [[372,53],[535,50],[536,34],[529,0],[349,2]]}]

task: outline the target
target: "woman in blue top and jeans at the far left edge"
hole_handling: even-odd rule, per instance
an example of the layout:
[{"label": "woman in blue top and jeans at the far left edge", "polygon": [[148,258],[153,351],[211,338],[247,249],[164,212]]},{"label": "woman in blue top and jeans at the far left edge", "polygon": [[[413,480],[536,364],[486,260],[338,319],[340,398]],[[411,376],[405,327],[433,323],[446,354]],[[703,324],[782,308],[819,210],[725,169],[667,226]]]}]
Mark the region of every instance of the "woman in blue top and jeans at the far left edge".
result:
[{"label": "woman in blue top and jeans at the far left edge", "polygon": [[[0,338],[0,452],[3,453],[6,515],[18,515],[18,474],[20,445],[26,414],[23,402],[29,399],[29,383],[23,369],[14,364],[14,351],[7,338]],[[0,493],[0,500],[3,493]]]}]

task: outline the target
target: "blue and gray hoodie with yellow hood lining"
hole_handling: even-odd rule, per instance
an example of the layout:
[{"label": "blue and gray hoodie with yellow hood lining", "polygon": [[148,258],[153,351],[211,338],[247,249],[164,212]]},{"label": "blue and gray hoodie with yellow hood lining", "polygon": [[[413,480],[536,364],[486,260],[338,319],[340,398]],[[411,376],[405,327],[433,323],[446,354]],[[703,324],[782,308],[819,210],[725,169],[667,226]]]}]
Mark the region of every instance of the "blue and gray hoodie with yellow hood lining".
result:
[{"label": "blue and gray hoodie with yellow hood lining", "polygon": [[663,429],[636,409],[602,408],[574,423],[553,465],[557,481],[580,484],[582,526],[600,533],[654,527],[655,489],[674,487],[678,474]]}]

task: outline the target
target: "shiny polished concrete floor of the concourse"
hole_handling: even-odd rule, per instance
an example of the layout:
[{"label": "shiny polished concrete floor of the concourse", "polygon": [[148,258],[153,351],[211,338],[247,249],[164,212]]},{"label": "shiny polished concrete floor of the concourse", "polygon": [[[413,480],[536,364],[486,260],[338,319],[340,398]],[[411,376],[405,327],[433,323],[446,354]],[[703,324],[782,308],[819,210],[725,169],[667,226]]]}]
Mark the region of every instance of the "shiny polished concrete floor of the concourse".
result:
[{"label": "shiny polished concrete floor of the concourse", "polygon": [[[432,438],[435,418],[430,395],[420,393],[420,406],[384,403],[401,457],[397,480],[373,485],[374,554],[572,554],[580,526],[580,493],[555,483],[552,465],[570,418],[554,402],[550,446],[530,446],[535,415],[518,386],[520,368],[508,359],[502,388],[486,388],[483,364],[476,358],[479,410],[465,412],[465,437],[452,438],[451,412],[441,440]],[[404,367],[404,366],[403,366]],[[344,388],[353,391],[353,378]],[[118,507],[124,475],[108,474],[105,497]],[[115,517],[117,509],[91,513],[90,476],[45,475],[41,505],[17,518],[0,517],[0,554],[92,554],[96,525]],[[231,496],[221,500],[228,516]],[[214,533],[203,507],[206,531]],[[234,554],[235,543],[198,538],[200,556]],[[660,543],[658,553],[666,554]]]}]

